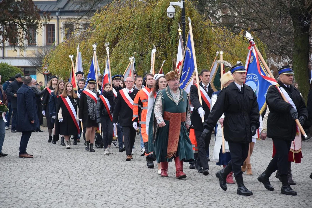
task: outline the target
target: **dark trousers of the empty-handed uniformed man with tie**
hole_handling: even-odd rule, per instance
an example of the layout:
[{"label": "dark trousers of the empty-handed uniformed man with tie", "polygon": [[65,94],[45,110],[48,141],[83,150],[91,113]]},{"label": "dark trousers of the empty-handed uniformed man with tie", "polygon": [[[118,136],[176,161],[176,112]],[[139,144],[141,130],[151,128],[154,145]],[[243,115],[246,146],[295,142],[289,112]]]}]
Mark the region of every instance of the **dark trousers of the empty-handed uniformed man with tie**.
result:
[{"label": "dark trousers of the empty-handed uniformed man with tie", "polygon": [[228,142],[232,159],[228,162],[228,165],[232,167],[234,176],[241,176],[241,166],[248,157],[249,143],[234,143]]}]

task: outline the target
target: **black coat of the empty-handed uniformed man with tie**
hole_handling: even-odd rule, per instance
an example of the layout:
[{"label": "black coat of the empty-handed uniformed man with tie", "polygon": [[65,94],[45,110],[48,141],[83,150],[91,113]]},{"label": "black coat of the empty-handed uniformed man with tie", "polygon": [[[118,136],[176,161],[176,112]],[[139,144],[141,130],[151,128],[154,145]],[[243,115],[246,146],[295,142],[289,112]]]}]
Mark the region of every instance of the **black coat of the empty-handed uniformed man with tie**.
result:
[{"label": "black coat of the empty-handed uniformed man with tie", "polygon": [[250,143],[251,126],[260,126],[257,97],[251,87],[244,84],[241,92],[232,82],[223,88],[205,120],[204,128],[212,131],[223,113],[224,139],[228,142]]}]

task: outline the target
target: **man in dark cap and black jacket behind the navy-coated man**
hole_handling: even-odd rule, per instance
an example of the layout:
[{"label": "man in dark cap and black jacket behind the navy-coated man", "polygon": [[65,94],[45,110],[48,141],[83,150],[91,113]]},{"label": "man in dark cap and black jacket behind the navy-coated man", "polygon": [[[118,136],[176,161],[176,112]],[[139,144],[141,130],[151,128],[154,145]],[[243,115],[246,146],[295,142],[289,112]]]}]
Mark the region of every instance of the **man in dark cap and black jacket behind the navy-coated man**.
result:
[{"label": "man in dark cap and black jacket behind the navy-coated man", "polygon": [[15,80],[9,84],[7,89],[5,90],[5,94],[7,96],[11,97],[11,106],[12,106],[12,128],[11,132],[15,133],[15,123],[16,123],[16,115],[17,115],[17,90],[22,86],[23,82],[22,79],[24,76],[22,76],[20,73],[15,75]]}]

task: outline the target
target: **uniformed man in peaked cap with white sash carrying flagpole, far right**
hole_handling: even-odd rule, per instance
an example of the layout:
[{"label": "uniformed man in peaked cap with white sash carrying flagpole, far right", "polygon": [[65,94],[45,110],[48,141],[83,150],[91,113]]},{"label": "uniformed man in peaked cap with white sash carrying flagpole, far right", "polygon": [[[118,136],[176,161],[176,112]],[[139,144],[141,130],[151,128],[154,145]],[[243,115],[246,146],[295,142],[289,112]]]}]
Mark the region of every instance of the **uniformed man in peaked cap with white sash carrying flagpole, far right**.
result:
[{"label": "uniformed man in peaked cap with white sash carrying flagpole, far right", "polygon": [[[266,94],[266,103],[270,109],[267,120],[267,136],[272,138],[276,154],[258,180],[264,184],[266,189],[273,191],[274,188],[270,184],[269,177],[278,170],[283,184],[280,193],[297,195],[297,192],[292,190],[288,183],[288,152],[291,141],[294,141],[298,131],[295,119],[299,117],[300,124],[303,125],[308,118],[308,110],[299,90],[292,85],[294,72],[289,65],[280,68],[278,74],[280,75],[278,81],[280,88],[271,86]],[[288,102],[283,100],[281,93],[285,95]]]}]

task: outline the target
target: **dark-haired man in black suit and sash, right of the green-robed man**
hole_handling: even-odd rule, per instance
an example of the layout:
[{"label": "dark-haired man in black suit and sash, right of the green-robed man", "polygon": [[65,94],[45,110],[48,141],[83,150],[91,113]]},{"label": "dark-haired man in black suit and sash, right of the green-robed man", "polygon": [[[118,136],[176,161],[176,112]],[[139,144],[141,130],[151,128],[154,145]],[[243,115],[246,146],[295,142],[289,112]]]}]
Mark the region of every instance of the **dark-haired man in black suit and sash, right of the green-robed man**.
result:
[{"label": "dark-haired man in black suit and sash, right of the green-robed man", "polygon": [[[202,105],[198,99],[198,91],[197,91],[197,84],[191,86],[191,93],[190,93],[190,100],[191,104],[194,107],[191,122],[193,128],[195,129],[195,137],[197,141],[197,158],[196,158],[196,169],[199,173],[207,176],[209,174],[209,165],[207,160],[207,150],[209,150],[209,144],[211,140],[211,133],[204,139],[202,138],[202,131],[203,131],[203,124],[202,124],[202,117],[204,120],[208,118],[210,113],[210,106],[211,106],[211,96],[213,90],[211,85],[209,84],[210,81],[210,72],[207,69],[203,69],[200,72],[199,78],[202,80],[200,85],[201,95],[202,95]],[[209,159],[209,158],[208,158]],[[209,159],[210,160],[210,159]]]}]

